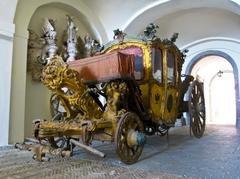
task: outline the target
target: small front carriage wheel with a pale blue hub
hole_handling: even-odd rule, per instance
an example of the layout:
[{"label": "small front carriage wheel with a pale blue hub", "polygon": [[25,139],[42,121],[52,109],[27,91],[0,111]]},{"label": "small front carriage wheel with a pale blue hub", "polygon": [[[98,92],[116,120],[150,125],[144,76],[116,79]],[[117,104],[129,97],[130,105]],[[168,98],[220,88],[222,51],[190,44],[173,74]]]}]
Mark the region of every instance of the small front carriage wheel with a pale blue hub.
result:
[{"label": "small front carriage wheel with a pale blue hub", "polygon": [[138,160],[145,143],[143,132],[143,123],[136,114],[128,112],[121,117],[115,133],[115,147],[122,162],[132,164]]}]

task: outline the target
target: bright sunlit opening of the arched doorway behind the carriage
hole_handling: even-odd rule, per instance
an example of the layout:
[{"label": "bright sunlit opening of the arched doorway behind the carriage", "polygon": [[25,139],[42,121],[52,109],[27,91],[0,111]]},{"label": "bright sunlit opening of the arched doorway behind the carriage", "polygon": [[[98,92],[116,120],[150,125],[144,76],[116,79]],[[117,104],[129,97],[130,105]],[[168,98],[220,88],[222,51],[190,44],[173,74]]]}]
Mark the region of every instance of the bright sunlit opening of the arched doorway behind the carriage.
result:
[{"label": "bright sunlit opening of the arched doorway behind the carriage", "polygon": [[236,97],[233,68],[220,56],[207,56],[191,74],[204,82],[207,124],[235,125]]}]

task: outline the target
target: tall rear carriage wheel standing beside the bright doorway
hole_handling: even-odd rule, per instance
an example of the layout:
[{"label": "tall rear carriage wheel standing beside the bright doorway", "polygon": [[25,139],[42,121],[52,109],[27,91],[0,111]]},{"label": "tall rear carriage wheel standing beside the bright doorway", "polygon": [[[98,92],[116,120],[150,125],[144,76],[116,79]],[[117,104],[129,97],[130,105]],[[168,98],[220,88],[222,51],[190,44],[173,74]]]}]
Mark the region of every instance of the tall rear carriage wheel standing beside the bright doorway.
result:
[{"label": "tall rear carriage wheel standing beside the bright doorway", "polygon": [[201,138],[206,125],[205,103],[202,85],[196,80],[193,81],[190,86],[188,107],[190,114],[190,127],[193,135],[197,138]]}]

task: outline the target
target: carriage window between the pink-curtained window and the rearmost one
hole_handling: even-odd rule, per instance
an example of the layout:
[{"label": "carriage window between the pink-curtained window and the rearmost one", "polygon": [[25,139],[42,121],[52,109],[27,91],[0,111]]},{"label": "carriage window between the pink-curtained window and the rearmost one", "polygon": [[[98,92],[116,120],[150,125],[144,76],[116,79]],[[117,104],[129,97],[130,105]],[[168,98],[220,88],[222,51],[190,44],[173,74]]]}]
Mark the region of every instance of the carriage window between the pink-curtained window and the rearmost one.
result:
[{"label": "carriage window between the pink-curtained window and the rearmost one", "polygon": [[153,78],[162,83],[162,50],[152,49]]}]

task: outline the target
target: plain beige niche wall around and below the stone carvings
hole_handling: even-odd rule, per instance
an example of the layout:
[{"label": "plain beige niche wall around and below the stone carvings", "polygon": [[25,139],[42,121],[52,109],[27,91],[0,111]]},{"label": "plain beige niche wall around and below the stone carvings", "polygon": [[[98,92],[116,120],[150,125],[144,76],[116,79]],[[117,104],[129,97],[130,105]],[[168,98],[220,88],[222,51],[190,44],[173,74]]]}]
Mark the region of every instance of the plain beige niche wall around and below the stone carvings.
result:
[{"label": "plain beige niche wall around and below the stone carvings", "polygon": [[[32,15],[28,29],[31,30],[32,33],[34,32],[35,36],[37,35],[41,36],[41,34],[43,34],[42,32],[43,25],[45,25],[43,24],[43,20],[46,17],[53,19],[56,30],[56,46],[59,49],[57,54],[60,54],[61,53],[60,49],[62,48],[64,43],[63,42],[64,30],[66,30],[68,23],[66,15],[70,16],[73,19],[74,25],[77,27],[76,36],[81,39],[82,43],[84,41],[84,37],[87,34],[90,35],[93,39],[97,39],[96,34],[94,34],[92,29],[88,26],[86,18],[80,12],[77,12],[76,10],[74,10],[71,7],[68,7],[67,5],[63,6],[61,3],[46,4],[37,8],[37,10]],[[38,39],[36,39],[35,41],[37,40]],[[78,44],[79,47],[80,45],[82,44]],[[80,49],[78,49],[79,54],[82,54],[83,52],[79,50]],[[39,53],[39,51],[35,51],[35,53]],[[34,56],[34,54],[31,54],[31,56]],[[37,56],[34,57],[36,58]],[[36,77],[32,78],[32,74],[34,73],[31,72],[37,71],[35,70],[37,65],[39,64],[36,63],[36,59],[32,58],[28,59],[27,68],[29,70],[26,78],[25,121],[24,121],[25,137],[32,136],[33,120],[51,118],[49,100],[52,92],[40,82],[40,78],[39,79],[36,79]],[[41,72],[38,71],[38,73]]]}]

